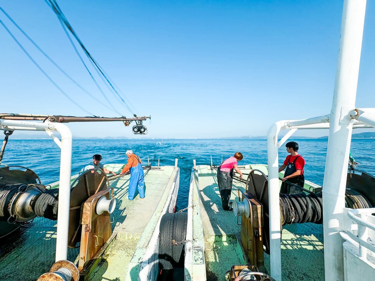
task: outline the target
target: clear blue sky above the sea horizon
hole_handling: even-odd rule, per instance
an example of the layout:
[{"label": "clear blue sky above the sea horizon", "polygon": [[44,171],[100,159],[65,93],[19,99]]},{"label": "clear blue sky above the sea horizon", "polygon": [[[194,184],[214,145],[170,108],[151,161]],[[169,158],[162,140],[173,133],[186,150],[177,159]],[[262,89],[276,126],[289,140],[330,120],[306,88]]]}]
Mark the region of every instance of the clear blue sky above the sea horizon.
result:
[{"label": "clear blue sky above the sea horizon", "polygon": [[[137,109],[147,137],[265,136],[272,123],[329,114],[343,1],[58,1],[87,49]],[[42,1],[0,6],[69,75],[98,89]],[[77,103],[89,98],[0,19]],[[368,1],[356,106],[375,104],[375,2]],[[0,26],[2,112],[87,114],[64,97]],[[107,96],[126,116],[112,94]],[[134,137],[122,123],[68,124],[74,136]],[[360,132],[360,131],[356,131]],[[296,135],[323,136],[328,131]]]}]

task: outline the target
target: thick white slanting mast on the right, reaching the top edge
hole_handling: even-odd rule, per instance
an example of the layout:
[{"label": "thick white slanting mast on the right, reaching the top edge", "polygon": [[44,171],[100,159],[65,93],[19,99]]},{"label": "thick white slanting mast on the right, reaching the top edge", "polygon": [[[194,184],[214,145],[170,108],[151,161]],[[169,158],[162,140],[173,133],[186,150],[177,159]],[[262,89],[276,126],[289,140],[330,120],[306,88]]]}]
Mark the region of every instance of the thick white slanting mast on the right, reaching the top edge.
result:
[{"label": "thick white slanting mast on the right, reaching the top edge", "polygon": [[324,265],[326,281],[344,280],[339,231],[345,206],[345,186],[362,47],[366,0],[344,0],[335,89],[330,114],[323,181]]}]

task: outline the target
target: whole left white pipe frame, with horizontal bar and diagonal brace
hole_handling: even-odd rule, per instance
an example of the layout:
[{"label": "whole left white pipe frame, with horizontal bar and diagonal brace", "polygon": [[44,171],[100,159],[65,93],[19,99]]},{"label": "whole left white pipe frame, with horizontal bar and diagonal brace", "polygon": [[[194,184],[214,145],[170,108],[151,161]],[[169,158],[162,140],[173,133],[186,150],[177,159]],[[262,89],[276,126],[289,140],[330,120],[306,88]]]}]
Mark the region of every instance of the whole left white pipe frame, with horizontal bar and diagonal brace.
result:
[{"label": "whole left white pipe frame, with horizontal bar and diagonal brace", "polygon": [[[59,260],[66,260],[68,254],[70,184],[72,171],[71,131],[67,126],[60,123],[39,123],[1,119],[0,130],[45,131],[61,148],[55,261],[58,262]],[[52,131],[57,131],[61,134],[61,142],[54,136]]]}]

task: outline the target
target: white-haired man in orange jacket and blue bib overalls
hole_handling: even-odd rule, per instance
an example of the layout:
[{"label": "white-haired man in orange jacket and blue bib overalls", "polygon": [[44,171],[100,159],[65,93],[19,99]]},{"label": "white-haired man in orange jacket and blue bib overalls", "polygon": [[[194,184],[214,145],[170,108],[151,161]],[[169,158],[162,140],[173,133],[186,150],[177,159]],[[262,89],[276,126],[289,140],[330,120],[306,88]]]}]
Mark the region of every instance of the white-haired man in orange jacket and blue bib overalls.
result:
[{"label": "white-haired man in orange jacket and blue bib overalls", "polygon": [[121,170],[120,175],[123,175],[128,170],[130,171],[130,180],[129,180],[129,191],[127,194],[127,198],[129,200],[133,200],[135,197],[135,191],[138,187],[139,197],[141,199],[144,198],[144,173],[141,159],[135,154],[133,151],[127,150],[126,156],[129,157],[127,160],[127,164]]}]

